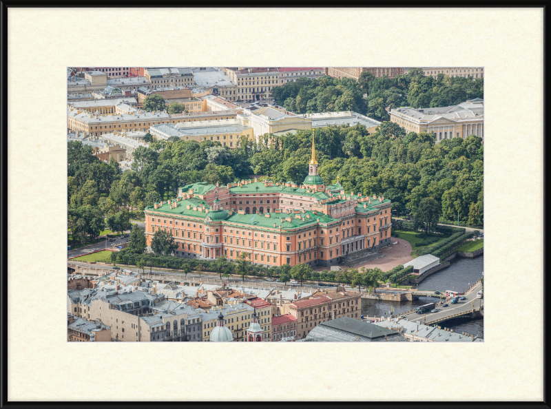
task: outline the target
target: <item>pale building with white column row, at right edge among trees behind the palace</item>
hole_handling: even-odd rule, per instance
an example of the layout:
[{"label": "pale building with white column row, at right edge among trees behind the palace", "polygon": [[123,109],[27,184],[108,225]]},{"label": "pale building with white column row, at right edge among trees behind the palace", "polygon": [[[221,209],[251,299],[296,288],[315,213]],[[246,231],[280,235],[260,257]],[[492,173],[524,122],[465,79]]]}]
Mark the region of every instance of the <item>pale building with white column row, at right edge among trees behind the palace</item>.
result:
[{"label": "pale building with white column row, at right edge among trees behind the palace", "polygon": [[388,112],[391,122],[406,132],[434,132],[436,143],[443,139],[479,136],[484,143],[484,100],[468,99],[459,105],[439,108],[400,107]]}]

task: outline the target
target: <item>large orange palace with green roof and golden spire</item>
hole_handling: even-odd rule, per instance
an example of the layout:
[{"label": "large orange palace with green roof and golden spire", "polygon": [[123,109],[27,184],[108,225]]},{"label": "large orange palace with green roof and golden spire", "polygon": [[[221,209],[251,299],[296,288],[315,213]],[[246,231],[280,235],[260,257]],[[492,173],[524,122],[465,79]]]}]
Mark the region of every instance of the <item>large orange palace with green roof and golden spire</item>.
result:
[{"label": "large orange palace with green roof and golden spire", "polygon": [[391,200],[346,193],[338,182],[325,185],[312,143],[309,175],[301,184],[196,182],[180,188],[176,199],[146,207],[145,229],[148,246],[156,231],[169,231],[178,257],[236,260],[245,252],[253,264],[268,267],[331,266],[348,253],[390,244]]}]

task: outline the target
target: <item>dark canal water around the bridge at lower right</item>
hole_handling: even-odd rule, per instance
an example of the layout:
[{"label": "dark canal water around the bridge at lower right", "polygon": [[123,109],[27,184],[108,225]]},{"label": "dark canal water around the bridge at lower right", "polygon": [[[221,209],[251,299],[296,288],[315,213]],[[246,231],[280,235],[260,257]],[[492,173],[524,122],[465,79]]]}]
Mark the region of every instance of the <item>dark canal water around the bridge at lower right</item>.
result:
[{"label": "dark canal water around the bridge at lower right", "polygon": [[[484,254],[477,258],[459,258],[451,262],[449,267],[430,275],[419,284],[419,290],[446,291],[455,290],[459,293],[468,289],[469,284],[474,284],[482,277],[484,271]],[[381,317],[389,315],[392,308],[394,315],[404,313],[416,306],[435,302],[435,297],[419,297],[413,301],[384,301],[362,300],[362,315],[368,317]],[[452,328],[455,333],[469,333],[484,338],[484,318],[480,319],[455,319],[446,322],[446,328]]]}]

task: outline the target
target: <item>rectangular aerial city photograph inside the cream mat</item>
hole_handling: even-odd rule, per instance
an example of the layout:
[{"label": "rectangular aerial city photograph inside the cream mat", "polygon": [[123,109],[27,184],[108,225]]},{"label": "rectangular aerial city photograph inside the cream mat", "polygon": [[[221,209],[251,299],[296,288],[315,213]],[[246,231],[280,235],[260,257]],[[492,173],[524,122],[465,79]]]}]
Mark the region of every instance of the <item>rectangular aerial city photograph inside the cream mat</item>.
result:
[{"label": "rectangular aerial city photograph inside the cream mat", "polygon": [[484,342],[484,67],[67,67],[66,302],[67,342]]}]

